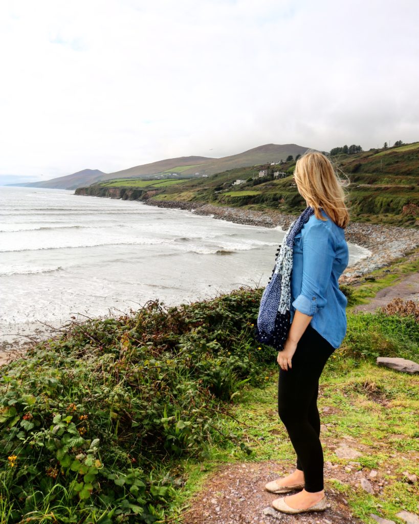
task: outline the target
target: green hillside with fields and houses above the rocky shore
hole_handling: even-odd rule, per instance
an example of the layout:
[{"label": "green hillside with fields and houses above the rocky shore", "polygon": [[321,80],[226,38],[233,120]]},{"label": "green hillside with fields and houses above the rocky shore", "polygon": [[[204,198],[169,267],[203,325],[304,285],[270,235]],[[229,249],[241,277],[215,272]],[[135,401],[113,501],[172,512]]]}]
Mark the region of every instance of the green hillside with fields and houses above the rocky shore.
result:
[{"label": "green hillside with fields and houses above the rocky shore", "polygon": [[[419,206],[419,143],[387,150],[363,151],[356,155],[338,155],[333,163],[344,181],[352,221],[417,226]],[[180,200],[230,205],[263,211],[277,210],[297,213],[304,205],[291,174],[295,162],[283,166],[269,166],[270,171],[284,171],[289,176],[282,179],[262,179],[255,185],[249,180],[232,185],[238,179],[257,177],[260,166],[231,169],[208,178],[186,180],[164,187],[152,200]],[[272,177],[271,177],[272,178]],[[129,182],[129,187],[135,185]],[[151,184],[155,182],[150,181]],[[142,181],[139,186],[144,187]],[[120,187],[122,182],[116,182]],[[112,187],[108,183],[107,187]],[[153,186],[155,189],[155,185]],[[406,205],[411,204],[409,209]],[[416,208],[415,208],[416,206]],[[404,208],[404,210],[403,210]]]}]

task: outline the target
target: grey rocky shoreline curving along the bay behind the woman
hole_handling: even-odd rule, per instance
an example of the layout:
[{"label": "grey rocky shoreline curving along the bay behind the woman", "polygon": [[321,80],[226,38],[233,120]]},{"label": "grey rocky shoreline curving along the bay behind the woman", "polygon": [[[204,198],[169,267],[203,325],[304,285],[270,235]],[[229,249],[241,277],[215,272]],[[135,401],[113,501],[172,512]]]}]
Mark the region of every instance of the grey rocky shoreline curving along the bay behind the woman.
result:
[{"label": "grey rocky shoreline curving along the bay behind the woman", "polygon": [[[159,208],[183,209],[197,215],[210,215],[214,219],[227,220],[237,224],[263,227],[280,226],[286,231],[296,216],[283,214],[274,210],[251,211],[242,208],[202,204],[199,202],[182,202],[175,200],[151,200],[143,202]],[[383,226],[366,222],[349,222],[345,228],[347,242],[365,247],[371,254],[348,266],[340,277],[339,283],[356,281],[362,275],[388,266],[390,261],[401,258],[419,246],[419,231],[398,226]]]}]

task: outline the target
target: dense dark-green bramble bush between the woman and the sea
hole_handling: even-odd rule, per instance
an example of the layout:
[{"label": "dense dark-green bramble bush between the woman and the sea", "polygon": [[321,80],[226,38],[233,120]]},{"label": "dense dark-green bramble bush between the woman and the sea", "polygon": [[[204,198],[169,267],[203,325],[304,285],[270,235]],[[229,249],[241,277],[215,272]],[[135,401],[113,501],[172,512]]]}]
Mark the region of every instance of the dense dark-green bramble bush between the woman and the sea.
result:
[{"label": "dense dark-green bramble bush between the woman and the sea", "polygon": [[[262,289],[119,318],[75,318],[0,377],[0,515],[147,522],[179,479],[164,465],[233,441],[219,419],[277,353],[253,339]],[[3,512],[3,513],[2,513]]]}]

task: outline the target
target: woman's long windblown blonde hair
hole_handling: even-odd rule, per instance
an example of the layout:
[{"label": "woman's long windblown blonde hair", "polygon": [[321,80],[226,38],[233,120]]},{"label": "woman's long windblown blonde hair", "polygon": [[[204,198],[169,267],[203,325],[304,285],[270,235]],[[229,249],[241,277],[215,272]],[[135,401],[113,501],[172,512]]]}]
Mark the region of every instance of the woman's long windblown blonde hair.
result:
[{"label": "woman's long windblown blonde hair", "polygon": [[349,212],[345,200],[349,193],[343,189],[347,184],[342,183],[325,155],[306,151],[295,164],[294,180],[301,196],[314,208],[317,219],[327,220],[320,212],[322,208],[335,224],[347,226]]}]

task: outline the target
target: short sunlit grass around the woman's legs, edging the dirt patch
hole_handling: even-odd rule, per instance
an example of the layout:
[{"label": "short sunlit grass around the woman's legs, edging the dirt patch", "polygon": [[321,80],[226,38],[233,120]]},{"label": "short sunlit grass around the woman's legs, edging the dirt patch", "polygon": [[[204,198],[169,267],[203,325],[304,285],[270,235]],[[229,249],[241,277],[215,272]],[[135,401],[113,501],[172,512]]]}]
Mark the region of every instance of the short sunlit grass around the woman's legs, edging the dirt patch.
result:
[{"label": "short sunlit grass around the woman's legs, edging the dirt patch", "polygon": [[[370,522],[370,512],[397,521],[395,514],[401,507],[417,512],[415,497],[419,490],[406,482],[403,472],[419,475],[419,465],[414,460],[419,456],[415,421],[419,381],[410,375],[379,368],[368,360],[353,364],[343,353],[338,353],[335,359],[329,359],[321,377],[319,411],[325,406],[339,410],[333,414],[321,413],[322,423],[329,424],[327,432],[322,431],[324,460],[341,467],[347,465],[350,460],[339,459],[334,447],[342,435],[349,435],[358,443],[352,446],[365,449],[356,459],[365,475],[376,469],[389,484],[380,495],[370,495],[354,488],[348,475],[348,482],[326,478],[326,490],[337,489],[348,500],[352,514],[363,522]],[[223,464],[270,460],[289,466],[295,463],[295,452],[276,411],[277,370],[269,373],[265,388],[247,388],[240,395],[239,403],[231,410],[239,423],[233,419],[228,421],[229,431],[246,440],[251,453],[245,455],[237,447],[228,445],[223,450],[214,450],[203,463],[189,461],[183,473],[188,482],[173,501],[168,518],[181,513],[180,508],[193,500],[194,494],[208,482],[208,476]],[[383,397],[388,400],[385,405],[372,400],[369,394],[380,385],[384,385]],[[403,439],[398,438],[401,435]],[[387,474],[387,470],[391,470],[391,474]]]}]

